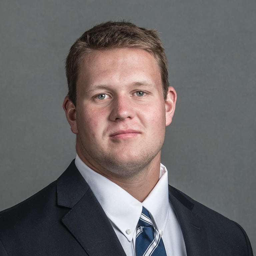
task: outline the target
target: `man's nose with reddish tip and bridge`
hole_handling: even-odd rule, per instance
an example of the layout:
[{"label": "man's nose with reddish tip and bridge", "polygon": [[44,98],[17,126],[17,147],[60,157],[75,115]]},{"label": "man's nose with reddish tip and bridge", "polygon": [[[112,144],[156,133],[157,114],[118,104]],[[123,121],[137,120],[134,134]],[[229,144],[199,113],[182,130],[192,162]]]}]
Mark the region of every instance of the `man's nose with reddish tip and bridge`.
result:
[{"label": "man's nose with reddish tip and bridge", "polygon": [[111,103],[110,120],[125,120],[134,117],[134,106],[129,97],[116,97]]}]

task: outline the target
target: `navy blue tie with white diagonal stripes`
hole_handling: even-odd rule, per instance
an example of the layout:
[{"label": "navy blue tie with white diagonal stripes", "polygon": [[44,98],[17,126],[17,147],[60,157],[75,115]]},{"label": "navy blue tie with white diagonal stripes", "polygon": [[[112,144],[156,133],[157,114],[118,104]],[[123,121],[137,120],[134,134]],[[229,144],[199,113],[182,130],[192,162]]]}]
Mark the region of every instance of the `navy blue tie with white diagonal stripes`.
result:
[{"label": "navy blue tie with white diagonal stripes", "polygon": [[166,256],[163,240],[144,207],[138,222],[135,246],[136,256]]}]

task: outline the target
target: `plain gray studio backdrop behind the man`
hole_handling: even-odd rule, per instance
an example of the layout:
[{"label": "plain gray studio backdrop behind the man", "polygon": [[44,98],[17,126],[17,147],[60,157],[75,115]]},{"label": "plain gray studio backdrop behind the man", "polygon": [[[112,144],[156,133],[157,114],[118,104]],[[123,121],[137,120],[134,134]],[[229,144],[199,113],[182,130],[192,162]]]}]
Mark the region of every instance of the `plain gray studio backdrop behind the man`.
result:
[{"label": "plain gray studio backdrop behind the man", "polygon": [[0,3],[0,210],[55,180],[75,157],[62,110],[64,62],[110,19],[157,28],[178,93],[162,162],[171,185],[239,222],[256,251],[256,2]]}]

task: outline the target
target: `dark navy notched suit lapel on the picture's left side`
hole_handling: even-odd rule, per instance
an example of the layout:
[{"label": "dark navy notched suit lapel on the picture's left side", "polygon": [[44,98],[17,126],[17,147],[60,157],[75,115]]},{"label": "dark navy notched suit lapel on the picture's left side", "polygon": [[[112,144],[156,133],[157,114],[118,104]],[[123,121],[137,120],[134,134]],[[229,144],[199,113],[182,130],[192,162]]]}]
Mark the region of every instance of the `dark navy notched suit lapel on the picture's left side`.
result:
[{"label": "dark navy notched suit lapel on the picture's left side", "polygon": [[90,256],[125,252],[98,200],[74,161],[57,180],[58,205],[72,208],[62,223]]}]

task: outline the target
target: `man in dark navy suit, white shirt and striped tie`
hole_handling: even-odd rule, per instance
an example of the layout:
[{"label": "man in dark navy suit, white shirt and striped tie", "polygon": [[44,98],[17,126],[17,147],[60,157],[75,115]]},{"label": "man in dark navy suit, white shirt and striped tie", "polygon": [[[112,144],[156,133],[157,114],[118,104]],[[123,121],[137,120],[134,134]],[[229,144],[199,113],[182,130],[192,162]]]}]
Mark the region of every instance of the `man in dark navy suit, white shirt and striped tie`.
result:
[{"label": "man in dark navy suit, white shirt and striped tie", "polygon": [[155,30],[106,22],[66,60],[76,159],[0,214],[3,255],[253,255],[235,222],[173,187],[160,163],[176,92]]}]

